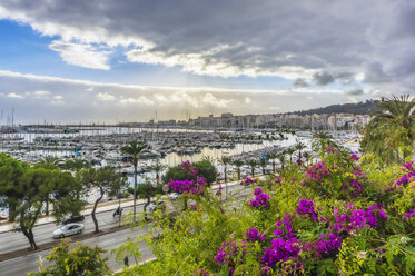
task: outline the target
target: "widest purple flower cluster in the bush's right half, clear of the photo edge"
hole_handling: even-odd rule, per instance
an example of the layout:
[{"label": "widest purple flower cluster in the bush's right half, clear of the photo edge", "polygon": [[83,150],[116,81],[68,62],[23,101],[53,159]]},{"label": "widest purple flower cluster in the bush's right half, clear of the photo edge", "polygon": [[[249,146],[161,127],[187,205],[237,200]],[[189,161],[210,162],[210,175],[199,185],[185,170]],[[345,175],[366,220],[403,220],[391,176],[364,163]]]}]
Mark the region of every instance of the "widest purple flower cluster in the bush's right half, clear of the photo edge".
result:
[{"label": "widest purple flower cluster in the bush's right half, clear of the photo edge", "polygon": [[379,219],[386,219],[387,215],[383,210],[382,206],[374,204],[366,210],[355,209],[352,204],[347,205],[347,213],[339,215],[335,208],[334,215],[336,217],[336,224],[332,226],[335,233],[345,230],[347,233],[354,233],[362,228],[376,228]]}]

